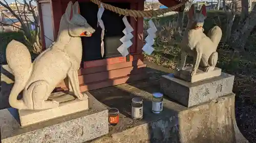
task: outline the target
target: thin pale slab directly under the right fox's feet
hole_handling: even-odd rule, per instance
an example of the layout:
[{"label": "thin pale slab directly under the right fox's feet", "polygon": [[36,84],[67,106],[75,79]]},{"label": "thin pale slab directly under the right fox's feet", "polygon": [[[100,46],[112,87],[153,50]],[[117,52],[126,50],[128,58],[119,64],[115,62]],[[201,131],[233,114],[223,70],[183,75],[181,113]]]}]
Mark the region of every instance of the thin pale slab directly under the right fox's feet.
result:
[{"label": "thin pale slab directly under the right fox's feet", "polygon": [[176,71],[174,73],[174,76],[188,82],[202,81],[205,79],[209,79],[209,78],[221,75],[221,69],[217,67],[213,71],[208,71],[208,72],[204,72],[203,70],[198,69],[197,73],[193,76],[190,75],[190,72],[193,69],[193,67],[184,67],[184,68],[185,69],[182,71]]}]

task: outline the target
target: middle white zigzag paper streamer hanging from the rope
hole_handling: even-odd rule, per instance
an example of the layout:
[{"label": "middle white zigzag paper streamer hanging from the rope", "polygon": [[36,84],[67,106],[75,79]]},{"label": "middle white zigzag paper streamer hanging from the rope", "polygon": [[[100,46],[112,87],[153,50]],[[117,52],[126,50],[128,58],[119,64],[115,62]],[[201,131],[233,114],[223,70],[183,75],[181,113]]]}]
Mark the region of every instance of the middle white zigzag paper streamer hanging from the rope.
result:
[{"label": "middle white zigzag paper streamer hanging from the rope", "polygon": [[117,48],[117,50],[122,54],[122,56],[126,56],[129,54],[128,48],[133,45],[133,42],[131,39],[133,38],[132,32],[133,27],[130,25],[130,23],[127,20],[127,17],[123,17],[123,23],[125,25],[125,28],[123,30],[124,36],[120,39],[122,42],[122,45]]}]

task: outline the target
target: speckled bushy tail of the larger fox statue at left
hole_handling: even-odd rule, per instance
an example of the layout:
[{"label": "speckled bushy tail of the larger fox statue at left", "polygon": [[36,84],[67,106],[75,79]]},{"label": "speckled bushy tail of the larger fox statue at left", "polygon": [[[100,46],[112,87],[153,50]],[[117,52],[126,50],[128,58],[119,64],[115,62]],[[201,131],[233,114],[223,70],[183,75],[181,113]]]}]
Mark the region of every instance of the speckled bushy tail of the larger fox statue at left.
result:
[{"label": "speckled bushy tail of the larger fox statue at left", "polygon": [[31,75],[33,64],[30,52],[24,44],[12,40],[6,48],[6,59],[15,77],[15,82],[9,96],[9,103],[14,108],[25,109],[26,105],[24,101],[17,100],[17,97],[24,90]]}]

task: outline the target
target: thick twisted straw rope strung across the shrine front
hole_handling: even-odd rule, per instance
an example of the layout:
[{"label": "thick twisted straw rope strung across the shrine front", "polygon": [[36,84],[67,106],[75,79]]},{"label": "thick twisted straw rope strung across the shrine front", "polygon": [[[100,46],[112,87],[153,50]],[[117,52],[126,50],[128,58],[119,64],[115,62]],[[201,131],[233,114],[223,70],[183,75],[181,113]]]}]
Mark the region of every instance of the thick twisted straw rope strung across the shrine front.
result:
[{"label": "thick twisted straw rope strung across the shrine front", "polygon": [[176,6],[173,6],[173,7],[170,7],[170,8],[167,8],[167,9],[148,10],[148,11],[121,9],[121,8],[114,7],[114,6],[109,5],[109,4],[102,3],[99,0],[91,0],[91,2],[98,5],[99,7],[100,7],[100,4],[102,4],[102,6],[105,9],[108,9],[108,10],[110,10],[112,12],[115,12],[115,13],[118,13],[120,15],[132,16],[132,17],[135,17],[135,18],[139,17],[140,18],[140,17],[155,17],[155,16],[158,16],[158,15],[163,15],[167,12],[171,12],[171,11],[176,10],[177,8],[182,7],[183,5],[185,5],[185,3],[187,1],[183,1],[180,4],[178,4]]}]

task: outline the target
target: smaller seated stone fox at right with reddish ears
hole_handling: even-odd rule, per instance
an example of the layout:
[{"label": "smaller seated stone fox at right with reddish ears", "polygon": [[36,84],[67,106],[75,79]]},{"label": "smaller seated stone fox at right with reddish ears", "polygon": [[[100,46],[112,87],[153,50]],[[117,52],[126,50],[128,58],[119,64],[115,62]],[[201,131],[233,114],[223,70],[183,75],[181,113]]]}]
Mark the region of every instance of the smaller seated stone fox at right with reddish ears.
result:
[{"label": "smaller seated stone fox at right with reddish ears", "polygon": [[203,33],[206,18],[206,7],[195,10],[194,4],[188,11],[188,24],[181,44],[181,61],[178,70],[183,70],[187,54],[193,56],[194,64],[191,75],[195,75],[200,65],[205,72],[212,71],[218,61],[217,47],[221,40],[222,31],[219,26],[210,29],[207,36]]}]

